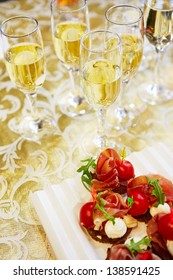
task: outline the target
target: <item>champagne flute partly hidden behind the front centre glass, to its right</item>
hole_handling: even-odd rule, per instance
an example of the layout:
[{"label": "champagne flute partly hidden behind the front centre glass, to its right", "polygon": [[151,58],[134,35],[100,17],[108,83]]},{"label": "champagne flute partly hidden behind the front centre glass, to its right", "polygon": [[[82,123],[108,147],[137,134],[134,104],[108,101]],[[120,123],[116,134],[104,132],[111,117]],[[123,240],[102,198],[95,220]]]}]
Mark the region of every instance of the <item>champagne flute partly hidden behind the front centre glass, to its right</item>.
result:
[{"label": "champagne flute partly hidden behind the front centre glass, to its right", "polygon": [[143,12],[135,5],[122,4],[110,7],[105,17],[106,29],[117,32],[122,39],[122,92],[118,107],[111,112],[111,118],[116,129],[124,130],[135,126],[139,118],[136,106],[126,102],[126,92],[129,81],[142,61]]}]

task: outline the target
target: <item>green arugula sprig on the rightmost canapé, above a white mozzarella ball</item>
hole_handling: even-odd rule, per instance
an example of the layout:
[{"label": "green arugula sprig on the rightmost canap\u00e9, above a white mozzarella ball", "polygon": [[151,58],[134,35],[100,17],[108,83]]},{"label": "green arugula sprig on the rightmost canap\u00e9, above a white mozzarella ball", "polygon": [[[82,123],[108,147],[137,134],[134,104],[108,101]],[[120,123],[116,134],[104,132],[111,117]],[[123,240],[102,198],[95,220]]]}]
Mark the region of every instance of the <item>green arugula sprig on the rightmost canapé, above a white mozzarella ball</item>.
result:
[{"label": "green arugula sprig on the rightmost canap\u00e9, above a white mozzarella ball", "polygon": [[158,201],[154,204],[154,207],[157,207],[159,204],[165,203],[165,194],[162,192],[162,188],[159,185],[159,179],[150,179],[149,177],[146,177],[148,180],[148,183],[154,187],[154,190],[152,190],[151,194],[154,195]]}]

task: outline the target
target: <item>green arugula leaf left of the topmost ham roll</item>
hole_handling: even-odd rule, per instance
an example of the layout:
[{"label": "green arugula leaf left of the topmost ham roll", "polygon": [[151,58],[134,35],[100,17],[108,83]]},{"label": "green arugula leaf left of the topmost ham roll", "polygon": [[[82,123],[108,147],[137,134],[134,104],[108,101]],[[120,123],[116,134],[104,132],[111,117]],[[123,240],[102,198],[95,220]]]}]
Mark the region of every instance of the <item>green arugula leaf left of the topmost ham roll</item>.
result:
[{"label": "green arugula leaf left of the topmost ham roll", "polygon": [[81,162],[86,162],[86,164],[78,168],[77,172],[79,173],[82,172],[81,175],[82,184],[88,191],[90,191],[92,179],[93,179],[91,174],[91,168],[92,169],[96,168],[95,159],[91,157],[89,159],[81,160]]}]

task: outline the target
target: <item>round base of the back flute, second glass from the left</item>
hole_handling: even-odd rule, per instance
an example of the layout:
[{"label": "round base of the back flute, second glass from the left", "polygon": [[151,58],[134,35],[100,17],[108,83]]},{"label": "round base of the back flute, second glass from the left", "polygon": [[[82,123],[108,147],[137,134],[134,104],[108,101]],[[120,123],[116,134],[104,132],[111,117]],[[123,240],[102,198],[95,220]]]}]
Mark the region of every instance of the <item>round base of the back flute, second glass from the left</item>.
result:
[{"label": "round base of the back flute, second glass from the left", "polygon": [[86,99],[80,95],[74,96],[70,91],[59,96],[58,105],[63,114],[68,117],[78,117],[91,113],[91,107]]}]

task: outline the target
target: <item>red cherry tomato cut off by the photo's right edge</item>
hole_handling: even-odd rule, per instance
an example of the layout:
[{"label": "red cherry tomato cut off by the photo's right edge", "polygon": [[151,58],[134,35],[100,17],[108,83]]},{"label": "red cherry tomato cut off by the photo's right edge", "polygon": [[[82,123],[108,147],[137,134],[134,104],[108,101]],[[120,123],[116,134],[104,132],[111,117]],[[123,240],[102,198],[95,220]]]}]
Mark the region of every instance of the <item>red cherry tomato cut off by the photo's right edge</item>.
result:
[{"label": "red cherry tomato cut off by the photo's right edge", "polygon": [[173,240],[173,210],[159,218],[158,231],[167,240]]}]

